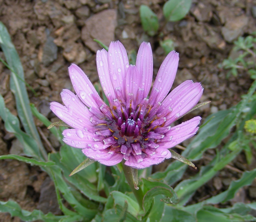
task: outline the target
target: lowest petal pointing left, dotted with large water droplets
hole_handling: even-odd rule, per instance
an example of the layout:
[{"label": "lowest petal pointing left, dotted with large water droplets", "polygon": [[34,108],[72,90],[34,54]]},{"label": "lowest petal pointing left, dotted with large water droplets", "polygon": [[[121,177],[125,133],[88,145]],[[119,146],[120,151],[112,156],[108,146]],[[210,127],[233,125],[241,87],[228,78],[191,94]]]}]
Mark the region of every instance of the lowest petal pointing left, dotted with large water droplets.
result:
[{"label": "lowest petal pointing left, dotted with large water droplets", "polygon": [[94,150],[106,149],[103,143],[93,140],[94,137],[99,136],[88,131],[81,129],[65,129],[62,134],[64,136],[63,141],[72,147],[84,149],[90,146]]}]

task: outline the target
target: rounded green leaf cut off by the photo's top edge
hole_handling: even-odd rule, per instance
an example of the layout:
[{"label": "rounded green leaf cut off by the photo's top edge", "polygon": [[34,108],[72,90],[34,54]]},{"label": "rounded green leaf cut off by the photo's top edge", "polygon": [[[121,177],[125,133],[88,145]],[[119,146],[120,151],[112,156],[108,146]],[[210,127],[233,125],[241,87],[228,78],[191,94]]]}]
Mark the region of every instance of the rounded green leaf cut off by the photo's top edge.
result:
[{"label": "rounded green leaf cut off by the photo's top edge", "polygon": [[179,21],[184,18],[190,7],[192,0],[169,0],[164,4],[163,13],[167,21]]}]

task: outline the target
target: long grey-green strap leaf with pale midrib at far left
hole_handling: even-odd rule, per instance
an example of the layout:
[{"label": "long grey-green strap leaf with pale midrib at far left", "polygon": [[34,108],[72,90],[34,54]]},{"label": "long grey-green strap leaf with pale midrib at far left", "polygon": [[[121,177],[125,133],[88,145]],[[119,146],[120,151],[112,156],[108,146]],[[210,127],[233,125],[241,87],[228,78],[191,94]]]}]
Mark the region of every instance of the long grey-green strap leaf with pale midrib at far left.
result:
[{"label": "long grey-green strap leaf with pale midrib at far left", "polygon": [[[29,107],[28,93],[24,83],[24,72],[20,62],[19,55],[12,44],[11,37],[2,22],[0,22],[0,46],[4,52],[4,56],[11,69],[18,74],[19,78],[14,72],[11,72],[10,88],[15,96],[16,108],[25,131],[36,141],[36,146],[31,147],[33,154],[37,153],[39,148],[40,155],[38,159],[46,160],[47,153],[43,147],[40,136],[36,130],[33,116]],[[32,154],[30,154],[32,155]]]}]

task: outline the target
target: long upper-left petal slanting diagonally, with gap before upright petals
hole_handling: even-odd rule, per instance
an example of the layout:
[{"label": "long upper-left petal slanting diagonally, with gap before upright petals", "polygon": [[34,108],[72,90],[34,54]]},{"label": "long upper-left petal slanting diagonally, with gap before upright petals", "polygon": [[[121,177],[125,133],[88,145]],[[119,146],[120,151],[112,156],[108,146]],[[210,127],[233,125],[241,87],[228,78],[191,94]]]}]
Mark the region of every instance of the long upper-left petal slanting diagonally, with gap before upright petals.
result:
[{"label": "long upper-left petal slanting diagonally, with gap before upright petals", "polygon": [[[98,98],[98,100],[101,100],[101,98],[83,70],[81,70],[76,64],[71,64],[68,67],[68,71],[72,85],[79,99],[82,100],[86,106],[93,106],[99,109],[99,105],[95,101],[95,98]],[[102,103],[104,102],[102,101]]]}]

